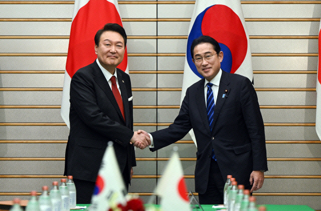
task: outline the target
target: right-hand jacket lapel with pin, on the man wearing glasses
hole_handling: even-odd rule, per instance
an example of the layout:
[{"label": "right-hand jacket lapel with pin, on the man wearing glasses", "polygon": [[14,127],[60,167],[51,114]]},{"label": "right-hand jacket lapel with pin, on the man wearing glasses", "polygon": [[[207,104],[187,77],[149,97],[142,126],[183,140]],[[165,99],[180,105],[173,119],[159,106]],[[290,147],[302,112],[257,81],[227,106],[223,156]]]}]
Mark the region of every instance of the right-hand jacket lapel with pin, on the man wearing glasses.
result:
[{"label": "right-hand jacket lapel with pin, on the man wearing glasses", "polygon": [[[220,112],[221,112],[221,108],[225,102],[226,96],[223,94],[225,94],[225,90],[227,90],[227,93],[230,92],[230,87],[228,86],[228,84],[230,83],[229,77],[228,77],[228,73],[225,72],[224,70],[222,70],[222,76],[220,79],[220,85],[219,85],[219,91],[217,94],[217,98],[216,98],[216,102],[215,102],[215,107],[214,107],[214,116],[213,116],[213,126],[215,127],[215,123],[217,120],[217,117],[219,116]],[[214,131],[214,129],[213,129]]]}]

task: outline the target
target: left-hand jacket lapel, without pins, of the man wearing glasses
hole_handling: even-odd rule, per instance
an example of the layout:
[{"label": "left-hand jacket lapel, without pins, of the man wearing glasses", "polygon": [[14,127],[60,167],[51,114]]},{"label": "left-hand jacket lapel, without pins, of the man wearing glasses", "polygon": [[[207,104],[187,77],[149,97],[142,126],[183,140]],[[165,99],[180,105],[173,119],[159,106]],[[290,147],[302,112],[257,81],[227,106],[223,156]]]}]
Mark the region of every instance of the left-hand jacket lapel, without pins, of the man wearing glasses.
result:
[{"label": "left-hand jacket lapel, without pins, of the man wearing glasses", "polygon": [[199,108],[198,110],[200,112],[200,117],[204,123],[204,126],[209,132],[211,132],[210,124],[207,116],[206,103],[205,103],[204,82],[205,82],[204,78],[199,82],[199,86],[197,87],[197,93],[196,93],[196,102],[197,102],[197,105]]}]

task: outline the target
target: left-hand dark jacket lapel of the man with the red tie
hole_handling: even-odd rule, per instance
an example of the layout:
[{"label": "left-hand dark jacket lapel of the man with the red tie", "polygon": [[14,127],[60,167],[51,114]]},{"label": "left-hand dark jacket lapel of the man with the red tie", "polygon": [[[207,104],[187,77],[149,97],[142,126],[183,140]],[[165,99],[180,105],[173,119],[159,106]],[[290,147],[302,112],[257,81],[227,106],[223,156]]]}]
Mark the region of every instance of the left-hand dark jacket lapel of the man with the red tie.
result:
[{"label": "left-hand dark jacket lapel of the man with the red tie", "polygon": [[[99,68],[99,66],[98,66],[96,61],[94,62],[94,65],[95,65],[94,69],[95,69],[95,73],[96,73],[96,75],[94,76],[94,80],[100,86],[100,88],[105,92],[105,94],[107,95],[107,97],[110,100],[111,104],[117,110],[118,115],[121,116],[121,119],[124,121],[124,118],[122,117],[122,114],[120,112],[120,109],[119,109],[119,106],[118,106],[117,101],[115,99],[115,96],[112,93],[112,90],[111,90],[110,86],[108,85],[108,81],[106,80],[105,75],[102,73],[102,71]],[[122,91],[121,91],[121,94],[122,94]]]}]

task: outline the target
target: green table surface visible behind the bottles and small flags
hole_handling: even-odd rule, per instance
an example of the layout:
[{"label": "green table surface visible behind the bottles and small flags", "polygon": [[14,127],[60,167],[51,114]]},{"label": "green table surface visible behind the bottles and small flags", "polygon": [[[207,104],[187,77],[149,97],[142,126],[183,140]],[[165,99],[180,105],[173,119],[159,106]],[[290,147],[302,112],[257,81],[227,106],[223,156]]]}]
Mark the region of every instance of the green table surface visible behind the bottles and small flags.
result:
[{"label": "green table surface visible behind the bottles and small flags", "polygon": [[[77,204],[78,206],[89,206],[90,204]],[[314,211],[314,209],[310,208],[307,205],[280,205],[280,204],[263,204],[266,207],[267,211]],[[159,205],[155,205],[159,206]],[[215,209],[212,208],[212,205],[204,204],[202,205],[204,211],[215,211],[220,210],[220,208]],[[87,209],[84,209],[84,211]],[[193,209],[193,211],[199,211],[202,209]],[[224,210],[224,209],[222,209]]]}]

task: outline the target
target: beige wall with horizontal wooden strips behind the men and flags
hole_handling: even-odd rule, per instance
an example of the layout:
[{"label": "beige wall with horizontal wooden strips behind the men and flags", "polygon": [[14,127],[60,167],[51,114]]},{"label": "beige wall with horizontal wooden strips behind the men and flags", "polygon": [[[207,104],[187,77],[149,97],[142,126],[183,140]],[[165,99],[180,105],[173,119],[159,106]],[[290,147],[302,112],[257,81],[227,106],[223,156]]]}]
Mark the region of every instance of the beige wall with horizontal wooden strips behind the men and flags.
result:
[{"label": "beige wall with horizontal wooden strips behind the men and flags", "polygon": [[[14,195],[28,198],[31,190],[41,191],[42,185],[60,179],[69,132],[60,104],[73,1],[16,2],[0,1],[0,200]],[[264,186],[254,195],[261,204],[307,204],[321,210],[321,141],[314,127],[321,3],[241,3],[269,166]],[[119,1],[129,36],[134,129],[164,128],[178,114],[181,91],[177,88],[182,87],[193,8],[194,1]],[[142,78],[147,82],[142,83]],[[188,189],[195,191],[196,147],[189,135],[175,145],[184,158]],[[157,158],[170,157],[172,149],[136,150],[137,167],[129,191],[148,201],[166,164]]]}]

